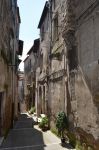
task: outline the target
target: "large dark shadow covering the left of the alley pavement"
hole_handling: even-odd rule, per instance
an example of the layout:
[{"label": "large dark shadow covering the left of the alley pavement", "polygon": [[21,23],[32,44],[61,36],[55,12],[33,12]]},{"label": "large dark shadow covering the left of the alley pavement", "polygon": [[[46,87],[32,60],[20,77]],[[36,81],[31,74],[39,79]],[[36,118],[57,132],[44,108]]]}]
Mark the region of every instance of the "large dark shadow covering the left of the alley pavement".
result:
[{"label": "large dark shadow covering the left of the alley pavement", "polygon": [[34,129],[33,125],[34,121],[32,118],[29,118],[26,114],[21,114],[0,149],[44,150],[46,145],[44,144],[42,132]]}]

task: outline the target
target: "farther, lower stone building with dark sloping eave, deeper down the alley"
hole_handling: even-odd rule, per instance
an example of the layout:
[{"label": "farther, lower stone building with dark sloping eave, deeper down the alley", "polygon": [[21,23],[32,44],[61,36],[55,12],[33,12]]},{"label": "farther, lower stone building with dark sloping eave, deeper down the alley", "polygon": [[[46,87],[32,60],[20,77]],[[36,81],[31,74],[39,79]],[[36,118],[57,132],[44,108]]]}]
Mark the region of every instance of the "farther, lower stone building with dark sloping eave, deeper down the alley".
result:
[{"label": "farther, lower stone building with dark sloping eave, deeper down the alley", "polygon": [[37,50],[39,39],[34,40],[34,44],[27,53],[24,60],[25,78],[24,78],[24,95],[27,103],[27,109],[35,106],[35,88],[36,88],[36,66],[37,66]]}]

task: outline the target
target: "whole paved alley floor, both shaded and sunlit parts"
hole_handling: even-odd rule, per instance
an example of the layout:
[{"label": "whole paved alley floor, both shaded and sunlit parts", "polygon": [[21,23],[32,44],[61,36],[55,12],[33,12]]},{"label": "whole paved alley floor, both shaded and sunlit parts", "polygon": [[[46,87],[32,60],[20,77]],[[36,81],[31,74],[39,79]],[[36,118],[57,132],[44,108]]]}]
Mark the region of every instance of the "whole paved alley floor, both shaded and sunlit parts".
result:
[{"label": "whole paved alley floor, both shaded and sunlit parts", "polygon": [[13,129],[2,143],[0,150],[72,150],[62,147],[60,139],[50,131],[42,132],[27,113],[20,115]]}]

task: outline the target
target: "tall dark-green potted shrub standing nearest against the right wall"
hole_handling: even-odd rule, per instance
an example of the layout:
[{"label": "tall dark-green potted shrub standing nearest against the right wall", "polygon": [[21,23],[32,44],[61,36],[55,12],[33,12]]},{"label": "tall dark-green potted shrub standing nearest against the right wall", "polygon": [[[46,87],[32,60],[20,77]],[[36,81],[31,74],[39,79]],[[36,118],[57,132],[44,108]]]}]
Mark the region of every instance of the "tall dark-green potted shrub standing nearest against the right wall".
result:
[{"label": "tall dark-green potted shrub standing nearest against the right wall", "polygon": [[64,131],[68,128],[68,120],[65,115],[65,112],[61,111],[56,116],[56,128],[58,129],[58,133],[61,137],[61,142],[65,142]]}]

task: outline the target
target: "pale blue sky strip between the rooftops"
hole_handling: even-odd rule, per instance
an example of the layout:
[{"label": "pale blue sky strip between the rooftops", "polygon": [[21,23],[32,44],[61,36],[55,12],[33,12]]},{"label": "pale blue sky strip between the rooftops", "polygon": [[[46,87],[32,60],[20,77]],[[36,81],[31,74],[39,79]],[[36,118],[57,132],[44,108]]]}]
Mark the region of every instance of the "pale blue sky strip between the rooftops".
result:
[{"label": "pale blue sky strip between the rooftops", "polygon": [[[19,39],[24,41],[22,60],[25,59],[27,52],[33,45],[33,41],[39,38],[38,23],[46,0],[18,0],[20,9],[20,35]],[[24,64],[19,68],[23,70]]]}]

